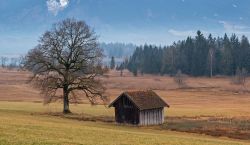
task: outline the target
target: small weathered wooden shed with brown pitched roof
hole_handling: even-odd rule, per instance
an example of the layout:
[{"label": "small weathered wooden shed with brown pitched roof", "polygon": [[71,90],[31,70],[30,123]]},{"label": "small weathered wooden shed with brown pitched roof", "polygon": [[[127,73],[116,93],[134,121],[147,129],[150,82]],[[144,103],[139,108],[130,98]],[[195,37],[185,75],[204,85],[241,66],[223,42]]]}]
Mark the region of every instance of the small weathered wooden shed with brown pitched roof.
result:
[{"label": "small weathered wooden shed with brown pitched roof", "polygon": [[164,107],[169,105],[149,90],[124,92],[109,107],[115,107],[118,123],[157,125],[164,122]]}]

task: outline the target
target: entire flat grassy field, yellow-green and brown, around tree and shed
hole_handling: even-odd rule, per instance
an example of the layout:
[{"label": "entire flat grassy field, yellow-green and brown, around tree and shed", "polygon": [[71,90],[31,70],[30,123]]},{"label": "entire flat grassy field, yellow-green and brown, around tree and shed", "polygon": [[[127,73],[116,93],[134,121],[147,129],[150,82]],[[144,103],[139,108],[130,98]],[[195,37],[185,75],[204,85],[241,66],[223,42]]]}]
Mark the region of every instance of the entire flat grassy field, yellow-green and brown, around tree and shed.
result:
[{"label": "entire flat grassy field, yellow-green and brown, around tree and shed", "polygon": [[153,89],[169,104],[166,123],[135,127],[113,122],[112,108],[60,103],[44,106],[39,91],[25,82],[27,72],[0,70],[0,144],[250,144],[250,80],[187,78],[179,89],[168,76],[133,77],[112,71],[101,78],[111,100],[122,91]]}]

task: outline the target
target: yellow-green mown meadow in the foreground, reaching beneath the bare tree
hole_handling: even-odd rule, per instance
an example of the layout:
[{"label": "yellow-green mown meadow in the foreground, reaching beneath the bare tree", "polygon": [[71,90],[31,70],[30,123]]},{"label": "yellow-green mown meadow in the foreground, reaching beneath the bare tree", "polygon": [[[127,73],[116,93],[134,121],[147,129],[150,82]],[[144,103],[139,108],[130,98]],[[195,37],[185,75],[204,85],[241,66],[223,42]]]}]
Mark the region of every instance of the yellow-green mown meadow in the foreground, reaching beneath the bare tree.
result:
[{"label": "yellow-green mown meadow in the foreground, reaching beneath the bare tree", "polygon": [[[60,104],[0,102],[1,145],[237,145],[249,144],[228,138],[159,130],[154,127],[117,125],[101,121],[79,121],[60,116],[40,114],[56,111]],[[59,111],[59,110],[58,110]],[[72,111],[91,115],[113,115],[103,106],[77,105]]]}]

